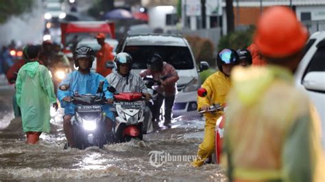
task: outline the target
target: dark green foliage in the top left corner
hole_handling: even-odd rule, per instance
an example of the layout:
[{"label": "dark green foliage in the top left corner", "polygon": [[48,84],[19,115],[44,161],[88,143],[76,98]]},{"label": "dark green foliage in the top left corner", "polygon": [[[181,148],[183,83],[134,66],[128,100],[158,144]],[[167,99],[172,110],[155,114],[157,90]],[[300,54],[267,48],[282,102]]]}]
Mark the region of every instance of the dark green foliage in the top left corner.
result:
[{"label": "dark green foliage in the top left corner", "polygon": [[11,16],[32,11],[34,5],[34,0],[0,0],[0,24],[8,21]]}]

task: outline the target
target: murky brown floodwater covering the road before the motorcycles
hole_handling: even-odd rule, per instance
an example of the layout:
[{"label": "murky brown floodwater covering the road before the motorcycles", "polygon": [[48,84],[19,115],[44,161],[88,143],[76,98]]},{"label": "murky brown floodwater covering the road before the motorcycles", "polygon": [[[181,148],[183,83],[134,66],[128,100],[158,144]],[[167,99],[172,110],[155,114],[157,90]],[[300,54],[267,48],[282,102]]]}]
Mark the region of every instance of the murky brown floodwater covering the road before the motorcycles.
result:
[{"label": "murky brown floodwater covering the road before the motorcycles", "polygon": [[217,165],[190,165],[202,141],[202,118],[178,118],[171,129],[144,135],[143,141],[64,150],[60,109],[52,114],[51,132],[43,133],[39,144],[27,145],[21,119],[12,120],[14,89],[0,90],[0,180],[226,181]]}]

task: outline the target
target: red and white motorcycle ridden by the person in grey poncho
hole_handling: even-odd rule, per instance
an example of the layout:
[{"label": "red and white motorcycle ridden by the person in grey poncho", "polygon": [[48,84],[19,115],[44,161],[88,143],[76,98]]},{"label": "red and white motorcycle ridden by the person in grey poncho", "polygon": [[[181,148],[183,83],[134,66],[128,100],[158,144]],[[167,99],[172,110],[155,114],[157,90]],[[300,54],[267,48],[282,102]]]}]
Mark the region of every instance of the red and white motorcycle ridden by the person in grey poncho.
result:
[{"label": "red and white motorcycle ridden by the person in grey poncho", "polygon": [[116,93],[114,87],[110,86],[108,91],[114,94],[115,138],[117,142],[130,142],[132,138],[143,140],[143,120],[145,98],[140,92]]}]

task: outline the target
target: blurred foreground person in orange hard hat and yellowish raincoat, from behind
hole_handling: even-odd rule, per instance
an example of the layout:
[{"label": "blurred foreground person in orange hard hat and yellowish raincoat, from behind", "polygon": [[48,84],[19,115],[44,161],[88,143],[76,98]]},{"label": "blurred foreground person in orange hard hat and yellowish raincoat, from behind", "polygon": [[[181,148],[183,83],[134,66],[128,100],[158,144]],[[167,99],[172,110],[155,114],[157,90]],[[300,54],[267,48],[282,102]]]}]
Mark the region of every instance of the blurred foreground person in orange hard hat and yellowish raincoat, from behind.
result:
[{"label": "blurred foreground person in orange hard hat and yellowish raincoat, from behind", "polygon": [[230,181],[324,181],[320,118],[293,85],[308,36],[286,7],[258,21],[254,43],[268,65],[232,71],[223,150]]}]

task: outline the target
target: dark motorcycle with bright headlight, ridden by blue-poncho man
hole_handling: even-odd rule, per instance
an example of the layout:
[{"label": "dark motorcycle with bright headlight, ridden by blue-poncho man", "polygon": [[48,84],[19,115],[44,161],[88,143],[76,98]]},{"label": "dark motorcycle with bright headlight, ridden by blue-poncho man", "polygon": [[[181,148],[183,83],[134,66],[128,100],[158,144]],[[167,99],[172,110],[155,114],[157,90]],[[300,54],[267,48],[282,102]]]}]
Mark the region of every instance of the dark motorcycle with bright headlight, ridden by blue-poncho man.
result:
[{"label": "dark motorcycle with bright headlight, ridden by blue-poncho man", "polygon": [[[77,105],[75,115],[71,119],[73,129],[73,144],[83,150],[88,146],[102,148],[106,144],[106,117],[101,105],[106,104],[103,91],[104,81],[99,83],[98,95],[77,94],[71,97],[71,103]],[[60,90],[68,90],[68,85],[62,85]]]}]

